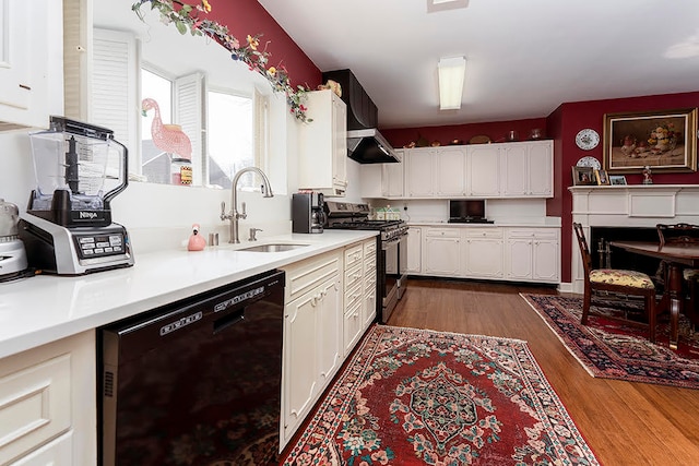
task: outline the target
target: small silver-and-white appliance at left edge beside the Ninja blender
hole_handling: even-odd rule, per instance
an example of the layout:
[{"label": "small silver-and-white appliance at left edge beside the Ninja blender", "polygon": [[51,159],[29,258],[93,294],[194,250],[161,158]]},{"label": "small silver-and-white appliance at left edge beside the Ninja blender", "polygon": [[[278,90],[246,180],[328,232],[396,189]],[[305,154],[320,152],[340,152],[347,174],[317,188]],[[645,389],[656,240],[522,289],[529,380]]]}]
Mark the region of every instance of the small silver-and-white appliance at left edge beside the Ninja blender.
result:
[{"label": "small silver-and-white appliance at left edge beside the Ninja blender", "polygon": [[24,243],[19,238],[16,205],[0,199],[0,282],[16,278],[27,268]]}]

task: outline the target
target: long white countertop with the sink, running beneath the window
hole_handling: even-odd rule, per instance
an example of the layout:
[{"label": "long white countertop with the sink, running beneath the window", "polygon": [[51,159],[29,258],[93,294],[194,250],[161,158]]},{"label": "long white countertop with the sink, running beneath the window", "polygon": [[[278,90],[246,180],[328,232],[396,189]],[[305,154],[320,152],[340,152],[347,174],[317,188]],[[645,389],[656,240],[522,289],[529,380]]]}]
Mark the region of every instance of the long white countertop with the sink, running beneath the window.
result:
[{"label": "long white countertop with the sink, running beneath the window", "polygon": [[[132,267],[76,277],[37,275],[0,284],[0,358],[95,328],[218,286],[371,238],[377,231],[289,234],[203,251],[153,252]],[[286,252],[249,246],[298,242]]]}]

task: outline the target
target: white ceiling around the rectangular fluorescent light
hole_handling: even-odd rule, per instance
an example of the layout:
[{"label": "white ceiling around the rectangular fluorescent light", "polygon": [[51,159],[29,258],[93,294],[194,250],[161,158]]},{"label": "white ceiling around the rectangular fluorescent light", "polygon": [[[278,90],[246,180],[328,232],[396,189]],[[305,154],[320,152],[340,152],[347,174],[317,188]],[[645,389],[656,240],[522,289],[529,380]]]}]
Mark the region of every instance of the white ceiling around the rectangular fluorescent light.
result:
[{"label": "white ceiling around the rectangular fluorescent light", "polygon": [[[435,13],[427,0],[258,1],[321,71],[354,72],[381,128],[699,91],[699,0],[470,0]],[[461,109],[440,111],[437,62],[461,55]]]}]

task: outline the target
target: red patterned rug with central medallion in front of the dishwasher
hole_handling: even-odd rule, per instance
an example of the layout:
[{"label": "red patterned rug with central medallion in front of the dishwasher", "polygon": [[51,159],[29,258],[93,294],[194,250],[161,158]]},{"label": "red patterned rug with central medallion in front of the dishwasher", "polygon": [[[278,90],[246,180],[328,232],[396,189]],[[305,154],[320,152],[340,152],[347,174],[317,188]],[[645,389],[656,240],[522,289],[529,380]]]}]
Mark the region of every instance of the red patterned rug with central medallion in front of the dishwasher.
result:
[{"label": "red patterned rug with central medallion in front of the dishwasher", "polygon": [[374,325],[284,465],[597,465],[525,342]]}]

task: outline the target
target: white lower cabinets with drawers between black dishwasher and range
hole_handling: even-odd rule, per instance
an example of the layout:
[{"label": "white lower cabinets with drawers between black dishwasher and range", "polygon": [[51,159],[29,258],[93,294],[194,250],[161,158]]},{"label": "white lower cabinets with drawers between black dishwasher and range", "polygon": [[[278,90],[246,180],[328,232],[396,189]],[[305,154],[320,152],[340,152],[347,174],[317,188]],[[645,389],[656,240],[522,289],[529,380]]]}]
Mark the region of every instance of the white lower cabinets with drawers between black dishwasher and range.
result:
[{"label": "white lower cabinets with drawers between black dishwasher and range", "polygon": [[376,238],[286,272],[281,447],[311,411],[376,316]]}]

